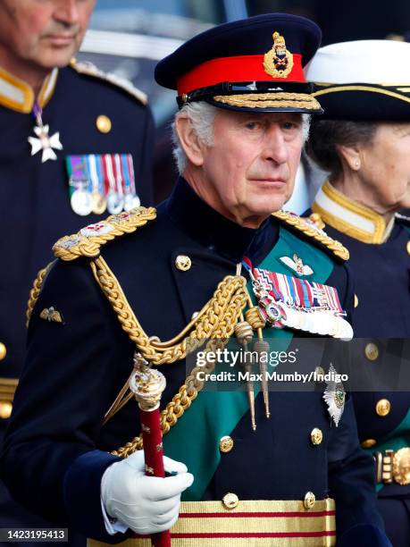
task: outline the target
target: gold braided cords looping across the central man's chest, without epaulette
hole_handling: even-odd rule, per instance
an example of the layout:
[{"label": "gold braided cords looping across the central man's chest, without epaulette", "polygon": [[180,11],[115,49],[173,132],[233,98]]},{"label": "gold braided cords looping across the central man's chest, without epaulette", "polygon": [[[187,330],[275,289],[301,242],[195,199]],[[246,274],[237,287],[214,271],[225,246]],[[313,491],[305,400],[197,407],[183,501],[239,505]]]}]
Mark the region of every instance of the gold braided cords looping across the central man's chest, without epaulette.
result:
[{"label": "gold braided cords looping across the central man's chest, without epaulette", "polygon": [[[135,342],[140,354],[155,366],[171,364],[186,358],[190,351],[196,349],[201,341],[206,339],[208,342],[205,351],[214,351],[216,347],[223,348],[235,331],[235,325],[249,300],[246,279],[241,276],[228,275],[218,284],[212,299],[205,304],[183,331],[170,341],[160,341],[157,337],[148,337],[144,332],[121,290],[120,283],[106,264],[105,259],[103,257],[96,258],[91,263],[91,268],[96,281],[112,305],[122,330],[127,332],[130,340]],[[178,393],[174,395],[172,401],[161,413],[163,434],[168,433],[170,428],[177,423],[184,411],[197,398],[198,392],[202,390],[204,382],[197,379],[197,372],[199,370],[203,370],[205,373],[211,372],[213,367],[214,363],[197,366],[188,375]],[[111,419],[132,397],[127,381],[105,414],[104,423]],[[114,450],[113,454],[127,458],[132,452],[141,449],[142,435],[138,435],[120,449]]]}]

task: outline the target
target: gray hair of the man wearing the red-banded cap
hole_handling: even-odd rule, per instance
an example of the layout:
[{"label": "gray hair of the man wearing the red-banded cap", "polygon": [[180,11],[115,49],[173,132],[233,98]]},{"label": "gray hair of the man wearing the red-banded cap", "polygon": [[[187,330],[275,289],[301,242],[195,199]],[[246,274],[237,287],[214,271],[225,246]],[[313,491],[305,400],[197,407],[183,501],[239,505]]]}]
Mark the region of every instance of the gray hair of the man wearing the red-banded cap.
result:
[{"label": "gray hair of the man wearing the red-banded cap", "polygon": [[[183,105],[180,112],[175,114],[175,121],[181,114],[187,114],[193,130],[197,133],[198,139],[200,139],[205,146],[213,146],[213,120],[218,112],[218,108],[213,105],[205,103],[205,101],[197,101],[196,103],[187,103]],[[308,139],[309,127],[311,121],[310,114],[302,114],[302,131],[303,142]],[[172,123],[172,154],[177,164],[178,172],[183,174],[187,168],[187,156],[184,149],[181,147],[180,138],[175,128],[175,121]]]}]

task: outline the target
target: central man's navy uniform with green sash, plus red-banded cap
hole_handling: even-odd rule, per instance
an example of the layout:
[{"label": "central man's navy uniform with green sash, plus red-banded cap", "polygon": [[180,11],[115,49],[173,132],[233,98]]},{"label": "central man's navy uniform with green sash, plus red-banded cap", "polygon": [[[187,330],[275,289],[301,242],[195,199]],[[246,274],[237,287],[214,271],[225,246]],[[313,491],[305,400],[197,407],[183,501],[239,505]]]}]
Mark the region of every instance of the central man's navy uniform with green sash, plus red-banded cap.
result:
[{"label": "central man's navy uniform with green sash, plus red-banded cap", "polygon": [[[180,46],[157,65],[155,79],[178,89],[180,106],[206,101],[253,113],[317,114],[321,105],[310,95],[303,67],[320,39],[314,22],[288,14],[234,21]],[[276,43],[286,51],[286,71],[271,63]],[[281,125],[285,130],[288,123]],[[272,161],[272,156],[266,159]],[[253,430],[252,391],[207,391],[199,379],[195,386],[187,380],[186,348],[190,341],[202,340],[201,332],[211,333],[212,339],[225,334],[223,339],[231,336],[234,324],[247,332],[258,328],[255,316],[253,326],[250,318],[246,323],[240,317],[250,300],[238,275],[244,257],[254,266],[287,275],[289,267],[281,258],[289,263],[297,254],[312,266],[313,281],[338,291],[348,316],[353,292],[343,264],[346,249],[311,224],[279,212],[257,230],[241,227],[206,205],[183,179],[154,217],[153,210],[136,209],[54,246],[61,260],[47,274],[39,296],[33,294],[38,301],[30,320],[29,353],[1,459],[13,496],[88,537],[108,543],[129,537],[129,532],[108,534],[100,491],[105,469],[118,459],[110,452],[134,446],[128,442],[139,433],[136,403],[116,407],[105,425],[104,417],[130,376],[134,351],[158,364],[155,359],[169,350],[172,362],[161,366],[167,381],[162,405],[172,402],[164,452],[185,462],[196,477],[182,496],[183,503],[195,504],[191,517],[196,518],[177,522],[183,528],[179,544],[202,545],[206,537],[209,545],[267,540],[290,546],[297,538],[316,547],[334,545],[337,536],[339,547],[389,545],[375,510],[372,459],[360,449],[352,402],[340,386],[275,392],[270,418],[258,395]],[[230,292],[227,283],[238,283],[238,289]],[[320,305],[311,312],[322,314],[326,288],[314,289]],[[299,311],[295,321],[306,320]],[[332,319],[349,330],[336,316],[339,305],[334,313],[328,311],[332,317],[316,315],[313,320],[322,320],[327,329]],[[257,313],[261,321],[257,308],[247,312]],[[264,333],[285,349],[293,341],[289,328]],[[227,436],[231,450],[224,449]],[[262,517],[255,510],[258,502],[268,508],[261,509]],[[216,534],[216,520],[208,518],[219,519]],[[184,531],[189,522],[205,526],[203,534]],[[230,525],[241,530],[231,534]],[[140,538],[135,543],[140,545]]]}]

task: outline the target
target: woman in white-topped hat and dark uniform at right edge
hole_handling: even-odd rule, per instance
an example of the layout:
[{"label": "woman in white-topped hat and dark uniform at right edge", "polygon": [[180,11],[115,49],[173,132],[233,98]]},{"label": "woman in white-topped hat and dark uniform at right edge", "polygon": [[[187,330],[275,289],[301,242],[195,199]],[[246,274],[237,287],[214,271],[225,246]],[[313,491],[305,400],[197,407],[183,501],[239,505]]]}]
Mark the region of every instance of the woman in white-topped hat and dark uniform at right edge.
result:
[{"label": "woman in white-topped hat and dark uniform at right edge", "polygon": [[362,40],[323,47],[307,72],[325,110],[309,151],[330,172],[312,218],[350,252],[356,366],[373,386],[354,393],[358,433],[397,547],[410,544],[410,393],[397,374],[400,358],[409,366],[410,219],[398,214],[410,206],[409,66],[410,44]]}]

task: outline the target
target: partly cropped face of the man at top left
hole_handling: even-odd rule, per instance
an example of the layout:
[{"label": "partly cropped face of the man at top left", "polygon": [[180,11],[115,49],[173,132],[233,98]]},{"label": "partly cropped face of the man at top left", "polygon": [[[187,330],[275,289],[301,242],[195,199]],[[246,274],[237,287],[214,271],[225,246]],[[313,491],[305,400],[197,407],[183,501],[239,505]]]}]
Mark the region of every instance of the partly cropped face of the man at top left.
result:
[{"label": "partly cropped face of the man at top left", "polygon": [[0,0],[0,46],[44,69],[65,66],[88,26],[96,0]]}]

